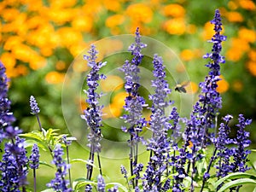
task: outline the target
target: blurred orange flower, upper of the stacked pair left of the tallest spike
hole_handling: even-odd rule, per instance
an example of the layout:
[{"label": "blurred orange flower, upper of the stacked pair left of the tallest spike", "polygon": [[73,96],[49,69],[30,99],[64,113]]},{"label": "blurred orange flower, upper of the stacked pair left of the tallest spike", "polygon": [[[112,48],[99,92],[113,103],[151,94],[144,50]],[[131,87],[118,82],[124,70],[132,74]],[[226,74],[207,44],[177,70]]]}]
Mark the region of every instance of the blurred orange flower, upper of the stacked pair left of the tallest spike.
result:
[{"label": "blurred orange flower, upper of the stacked pair left of the tallest spike", "polygon": [[164,15],[172,17],[183,17],[186,10],[179,4],[168,4],[164,7]]}]

